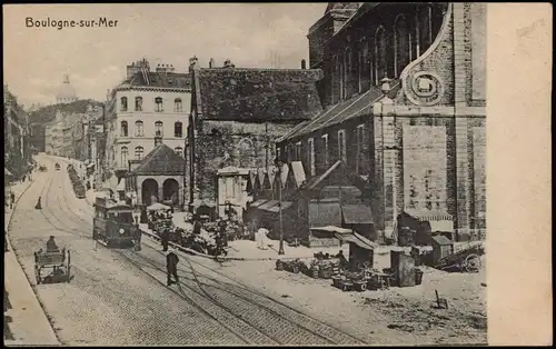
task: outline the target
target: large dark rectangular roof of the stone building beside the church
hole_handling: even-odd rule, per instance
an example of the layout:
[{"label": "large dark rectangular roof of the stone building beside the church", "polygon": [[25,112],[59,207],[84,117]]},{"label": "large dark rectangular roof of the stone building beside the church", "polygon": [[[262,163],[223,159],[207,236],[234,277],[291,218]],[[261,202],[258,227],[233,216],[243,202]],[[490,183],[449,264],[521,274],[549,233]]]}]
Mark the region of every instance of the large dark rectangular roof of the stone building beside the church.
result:
[{"label": "large dark rectangular roof of the stone building beside the church", "polygon": [[302,121],[322,110],[318,69],[201,68],[193,74],[197,108],[206,120]]}]

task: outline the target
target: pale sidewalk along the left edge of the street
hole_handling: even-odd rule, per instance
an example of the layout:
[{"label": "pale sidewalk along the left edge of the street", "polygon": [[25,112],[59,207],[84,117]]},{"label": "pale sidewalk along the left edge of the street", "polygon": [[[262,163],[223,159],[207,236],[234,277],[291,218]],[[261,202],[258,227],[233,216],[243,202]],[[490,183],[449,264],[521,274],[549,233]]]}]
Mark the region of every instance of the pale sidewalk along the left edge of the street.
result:
[{"label": "pale sidewalk along the left edge of the street", "polygon": [[[37,180],[37,174],[32,174],[33,180]],[[32,182],[26,181],[11,188],[16,193],[16,205],[31,185]],[[7,207],[4,230],[8,230],[12,213],[13,210]],[[4,252],[4,292],[8,293],[11,307],[4,311],[4,321],[6,317],[9,317],[8,329],[12,338],[7,339],[4,330],[6,345],[59,346],[60,342],[13,252],[10,240],[7,239],[7,242],[9,251]]]}]

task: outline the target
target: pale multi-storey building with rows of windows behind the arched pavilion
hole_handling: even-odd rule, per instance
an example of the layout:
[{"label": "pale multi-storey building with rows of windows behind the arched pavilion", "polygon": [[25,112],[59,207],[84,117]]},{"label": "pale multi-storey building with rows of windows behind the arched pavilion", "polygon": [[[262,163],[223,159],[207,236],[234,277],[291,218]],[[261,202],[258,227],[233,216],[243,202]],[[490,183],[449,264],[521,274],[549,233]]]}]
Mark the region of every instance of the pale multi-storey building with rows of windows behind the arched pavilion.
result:
[{"label": "pale multi-storey building with rows of windows behind the arched pavilion", "polygon": [[191,103],[189,74],[170,64],[151,71],[147,60],[127,68],[126,80],[106,104],[106,160],[109,177],[115,178],[110,188],[125,177],[129,160],[145,158],[159,143],[183,156]]}]

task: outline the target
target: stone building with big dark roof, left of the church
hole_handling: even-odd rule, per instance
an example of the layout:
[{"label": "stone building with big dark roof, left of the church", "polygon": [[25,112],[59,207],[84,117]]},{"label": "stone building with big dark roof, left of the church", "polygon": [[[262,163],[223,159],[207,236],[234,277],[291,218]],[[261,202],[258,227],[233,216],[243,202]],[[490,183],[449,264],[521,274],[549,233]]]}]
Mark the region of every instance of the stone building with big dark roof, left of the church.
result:
[{"label": "stone building with big dark roof, left of the church", "polygon": [[196,58],[190,63],[186,200],[195,211],[201,203],[215,209],[226,202],[218,196],[219,170],[271,166],[275,140],[321,111],[316,88],[321,71],[246,69],[230,62],[200,68]]}]

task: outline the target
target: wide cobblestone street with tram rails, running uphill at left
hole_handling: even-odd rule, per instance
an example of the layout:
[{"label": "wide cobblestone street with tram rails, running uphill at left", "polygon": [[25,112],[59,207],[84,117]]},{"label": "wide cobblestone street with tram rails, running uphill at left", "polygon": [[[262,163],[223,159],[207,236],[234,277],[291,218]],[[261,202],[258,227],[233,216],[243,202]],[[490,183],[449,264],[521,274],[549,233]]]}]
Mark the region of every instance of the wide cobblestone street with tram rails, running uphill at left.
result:
[{"label": "wide cobblestone street with tram rails, running uphill at left", "polygon": [[[92,208],[75,198],[66,164],[54,171],[48,160],[48,167],[21,198],[9,235],[32,283],[32,253],[50,235],[71,250],[70,283],[33,285],[62,343],[364,343],[210,269],[197,270],[185,256],[181,285],[168,288],[165,257],[148,239],[141,252],[96,248]],[[34,210],[39,196],[43,207]]]}]

